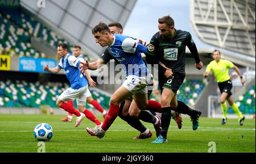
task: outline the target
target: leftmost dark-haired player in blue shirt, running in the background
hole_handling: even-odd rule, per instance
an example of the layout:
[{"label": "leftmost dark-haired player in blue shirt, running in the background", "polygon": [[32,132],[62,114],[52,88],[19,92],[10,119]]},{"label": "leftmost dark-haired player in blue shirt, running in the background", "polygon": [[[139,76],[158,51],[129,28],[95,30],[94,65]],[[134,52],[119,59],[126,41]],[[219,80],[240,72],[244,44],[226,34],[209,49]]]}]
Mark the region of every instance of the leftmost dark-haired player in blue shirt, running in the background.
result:
[{"label": "leftmost dark-haired player in blue shirt, running in the background", "polygon": [[[96,125],[100,125],[99,121],[92,112],[85,109],[86,95],[88,94],[88,81],[84,78],[84,75],[80,72],[79,67],[82,66],[80,60],[75,56],[68,53],[68,45],[65,43],[59,44],[57,47],[57,54],[61,57],[59,64],[55,68],[48,68],[45,65],[43,70],[49,73],[59,73],[61,69],[64,69],[65,75],[70,82],[70,87],[65,90],[57,99],[57,106],[63,108],[65,111],[73,113],[77,116],[75,127],[77,127],[85,115],[88,119],[93,121]],[[76,99],[77,107],[79,111],[75,110],[70,104],[65,103],[68,100]]]}]

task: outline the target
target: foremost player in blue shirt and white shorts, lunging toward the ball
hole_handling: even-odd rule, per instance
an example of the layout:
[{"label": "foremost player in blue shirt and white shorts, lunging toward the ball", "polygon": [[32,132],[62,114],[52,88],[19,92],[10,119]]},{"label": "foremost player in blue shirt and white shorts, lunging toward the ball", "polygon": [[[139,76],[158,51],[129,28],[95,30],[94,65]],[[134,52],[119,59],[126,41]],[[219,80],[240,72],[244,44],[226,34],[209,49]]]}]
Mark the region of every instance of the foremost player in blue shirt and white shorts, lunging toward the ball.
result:
[{"label": "foremost player in blue shirt and white shorts, lunging toward the ball", "polygon": [[[110,98],[110,108],[106,119],[101,128],[86,128],[92,135],[102,138],[105,132],[112,125],[115,118],[118,116],[119,104],[124,100],[133,96],[133,102],[129,109],[129,114],[133,117],[138,117],[141,110],[147,106],[147,85],[150,81],[150,73],[146,64],[142,60],[141,53],[146,52],[147,48],[129,36],[112,35],[107,24],[100,22],[92,30],[96,43],[101,47],[110,47],[113,59],[120,64],[126,73],[126,81]],[[84,65],[84,69],[96,70],[98,65],[105,64],[101,58],[96,62]],[[160,124],[160,119],[156,119],[151,113],[144,113],[140,117],[141,120],[152,124]]]}]

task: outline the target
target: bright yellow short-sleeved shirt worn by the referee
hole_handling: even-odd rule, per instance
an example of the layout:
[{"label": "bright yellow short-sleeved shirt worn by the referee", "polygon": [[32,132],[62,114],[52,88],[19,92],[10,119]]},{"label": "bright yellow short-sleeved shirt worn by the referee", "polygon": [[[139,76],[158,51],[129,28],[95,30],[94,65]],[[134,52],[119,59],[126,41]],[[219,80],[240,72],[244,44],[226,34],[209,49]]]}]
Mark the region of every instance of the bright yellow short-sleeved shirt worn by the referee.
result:
[{"label": "bright yellow short-sleeved shirt worn by the referee", "polygon": [[206,72],[212,71],[217,82],[224,82],[230,79],[229,68],[234,68],[234,64],[231,61],[220,59],[219,62],[216,62],[213,60],[207,65]]}]

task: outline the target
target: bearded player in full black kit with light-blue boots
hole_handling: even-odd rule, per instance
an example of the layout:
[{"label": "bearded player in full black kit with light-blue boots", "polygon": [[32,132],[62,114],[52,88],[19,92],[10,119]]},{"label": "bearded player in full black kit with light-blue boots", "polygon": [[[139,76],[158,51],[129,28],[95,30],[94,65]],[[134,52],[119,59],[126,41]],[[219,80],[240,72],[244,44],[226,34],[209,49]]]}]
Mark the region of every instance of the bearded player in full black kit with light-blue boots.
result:
[{"label": "bearded player in full black kit with light-blue boots", "polygon": [[147,47],[146,61],[158,64],[158,80],[162,105],[162,131],[152,143],[167,143],[167,132],[171,121],[171,110],[191,116],[192,128],[199,127],[201,111],[192,110],[185,103],[177,101],[176,92],[185,78],[185,47],[193,54],[196,69],[203,68],[197,48],[191,34],[187,31],[176,30],[174,19],[169,15],[158,19],[159,32],[156,32]]}]

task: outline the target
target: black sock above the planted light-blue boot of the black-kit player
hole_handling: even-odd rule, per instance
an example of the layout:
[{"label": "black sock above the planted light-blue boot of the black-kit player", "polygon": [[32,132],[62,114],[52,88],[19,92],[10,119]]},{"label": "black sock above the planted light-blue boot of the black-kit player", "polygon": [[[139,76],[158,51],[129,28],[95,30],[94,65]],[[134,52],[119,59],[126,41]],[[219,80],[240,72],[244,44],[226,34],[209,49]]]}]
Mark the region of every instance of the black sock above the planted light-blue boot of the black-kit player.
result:
[{"label": "black sock above the planted light-blue boot of the black-kit player", "polygon": [[171,117],[172,117],[171,107],[162,108],[162,117],[161,117],[162,131],[161,131],[161,136],[163,138],[167,138],[167,132],[168,132],[168,128],[169,128],[169,125],[170,125],[170,122],[171,122]]}]

